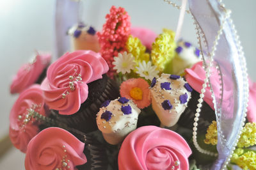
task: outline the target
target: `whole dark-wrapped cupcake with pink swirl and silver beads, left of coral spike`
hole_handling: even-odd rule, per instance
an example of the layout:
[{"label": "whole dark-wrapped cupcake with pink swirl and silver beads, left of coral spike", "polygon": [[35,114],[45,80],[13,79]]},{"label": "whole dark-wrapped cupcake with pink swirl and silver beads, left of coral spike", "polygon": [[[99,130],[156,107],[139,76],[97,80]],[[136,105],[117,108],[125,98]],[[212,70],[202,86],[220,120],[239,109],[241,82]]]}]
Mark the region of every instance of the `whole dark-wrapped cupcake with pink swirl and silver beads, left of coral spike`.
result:
[{"label": "whole dark-wrapped cupcake with pink swirl and silver beads, left of coral spike", "polygon": [[95,118],[100,105],[119,96],[106,72],[106,61],[92,50],[67,53],[49,66],[41,88],[60,127],[84,133],[97,130]]}]

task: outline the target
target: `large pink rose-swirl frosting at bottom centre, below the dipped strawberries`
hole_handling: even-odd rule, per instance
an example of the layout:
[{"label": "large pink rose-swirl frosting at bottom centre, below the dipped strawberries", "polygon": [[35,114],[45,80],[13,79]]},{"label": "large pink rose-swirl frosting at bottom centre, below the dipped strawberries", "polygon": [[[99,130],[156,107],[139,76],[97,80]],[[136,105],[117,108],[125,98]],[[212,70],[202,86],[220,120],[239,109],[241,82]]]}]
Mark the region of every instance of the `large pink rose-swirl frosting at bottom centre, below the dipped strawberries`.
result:
[{"label": "large pink rose-swirl frosting at bottom centre, below the dipped strawberries", "polygon": [[122,169],[189,169],[191,150],[177,133],[154,126],[140,127],[122,143],[118,167]]}]

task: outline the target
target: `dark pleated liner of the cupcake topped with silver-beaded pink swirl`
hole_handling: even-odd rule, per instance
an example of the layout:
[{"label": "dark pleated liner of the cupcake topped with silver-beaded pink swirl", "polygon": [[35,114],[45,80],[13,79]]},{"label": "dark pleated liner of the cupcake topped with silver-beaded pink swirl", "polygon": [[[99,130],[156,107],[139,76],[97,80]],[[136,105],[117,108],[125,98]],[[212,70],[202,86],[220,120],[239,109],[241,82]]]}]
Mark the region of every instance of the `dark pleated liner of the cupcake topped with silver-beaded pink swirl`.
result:
[{"label": "dark pleated liner of the cupcake topped with silver-beaded pink swirl", "polygon": [[115,82],[103,75],[102,79],[88,84],[88,98],[81,104],[79,111],[72,115],[61,115],[56,112],[56,120],[60,127],[75,128],[83,133],[97,130],[96,114],[106,100],[119,97],[119,89]]}]

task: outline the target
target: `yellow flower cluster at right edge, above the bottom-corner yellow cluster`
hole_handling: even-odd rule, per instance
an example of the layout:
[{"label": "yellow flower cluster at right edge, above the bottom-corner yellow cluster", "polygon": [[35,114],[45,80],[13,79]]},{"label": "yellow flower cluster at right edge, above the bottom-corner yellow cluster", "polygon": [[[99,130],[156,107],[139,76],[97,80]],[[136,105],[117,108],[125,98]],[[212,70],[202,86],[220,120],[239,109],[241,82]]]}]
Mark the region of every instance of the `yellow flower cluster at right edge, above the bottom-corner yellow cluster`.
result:
[{"label": "yellow flower cluster at right edge, above the bottom-corner yellow cluster", "polygon": [[246,123],[237,143],[238,148],[247,148],[256,144],[256,123]]}]

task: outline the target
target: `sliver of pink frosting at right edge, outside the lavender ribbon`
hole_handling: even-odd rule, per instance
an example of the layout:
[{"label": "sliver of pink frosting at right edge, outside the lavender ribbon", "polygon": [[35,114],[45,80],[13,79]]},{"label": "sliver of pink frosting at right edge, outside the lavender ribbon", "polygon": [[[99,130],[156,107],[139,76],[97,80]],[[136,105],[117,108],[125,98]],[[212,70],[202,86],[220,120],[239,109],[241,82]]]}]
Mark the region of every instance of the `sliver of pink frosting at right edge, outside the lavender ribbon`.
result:
[{"label": "sliver of pink frosting at right edge, outside the lavender ribbon", "polygon": [[249,102],[247,118],[250,122],[256,122],[256,83],[249,79]]}]

